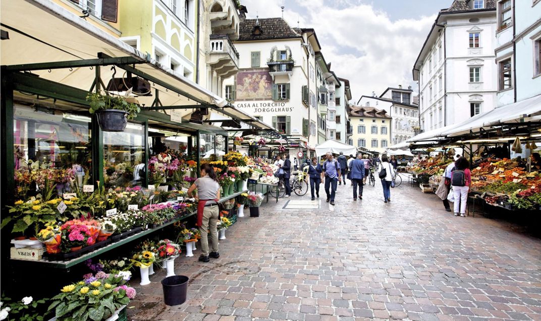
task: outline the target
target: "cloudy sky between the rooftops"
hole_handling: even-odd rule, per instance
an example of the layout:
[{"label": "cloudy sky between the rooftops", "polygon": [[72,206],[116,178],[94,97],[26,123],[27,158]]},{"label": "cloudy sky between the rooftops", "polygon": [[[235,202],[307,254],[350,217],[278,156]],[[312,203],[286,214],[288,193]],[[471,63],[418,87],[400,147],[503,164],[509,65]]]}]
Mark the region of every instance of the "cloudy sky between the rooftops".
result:
[{"label": "cloudy sky between the rooftops", "polygon": [[[351,83],[353,101],[413,82],[412,68],[440,9],[452,0],[241,0],[248,18],[280,17],[314,28],[331,69]],[[297,22],[299,21],[299,24]]]}]

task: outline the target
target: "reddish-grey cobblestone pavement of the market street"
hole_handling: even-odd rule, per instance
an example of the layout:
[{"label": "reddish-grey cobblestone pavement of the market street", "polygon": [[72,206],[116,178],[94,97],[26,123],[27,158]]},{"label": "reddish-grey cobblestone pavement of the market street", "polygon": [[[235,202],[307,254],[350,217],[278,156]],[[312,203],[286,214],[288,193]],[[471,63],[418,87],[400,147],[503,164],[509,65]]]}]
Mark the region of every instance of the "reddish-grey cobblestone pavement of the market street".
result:
[{"label": "reddish-grey cobblestone pavement of the market street", "polygon": [[[163,304],[160,280],[137,287],[133,320],[541,320],[541,240],[509,223],[454,217],[433,194],[381,185],[354,202],[338,186],[329,211],[283,209],[239,218],[219,259],[177,259],[189,299]],[[309,193],[308,193],[309,194]],[[295,202],[293,202],[295,203]],[[299,202],[296,202],[299,203]],[[308,206],[307,206],[308,207]]]}]

